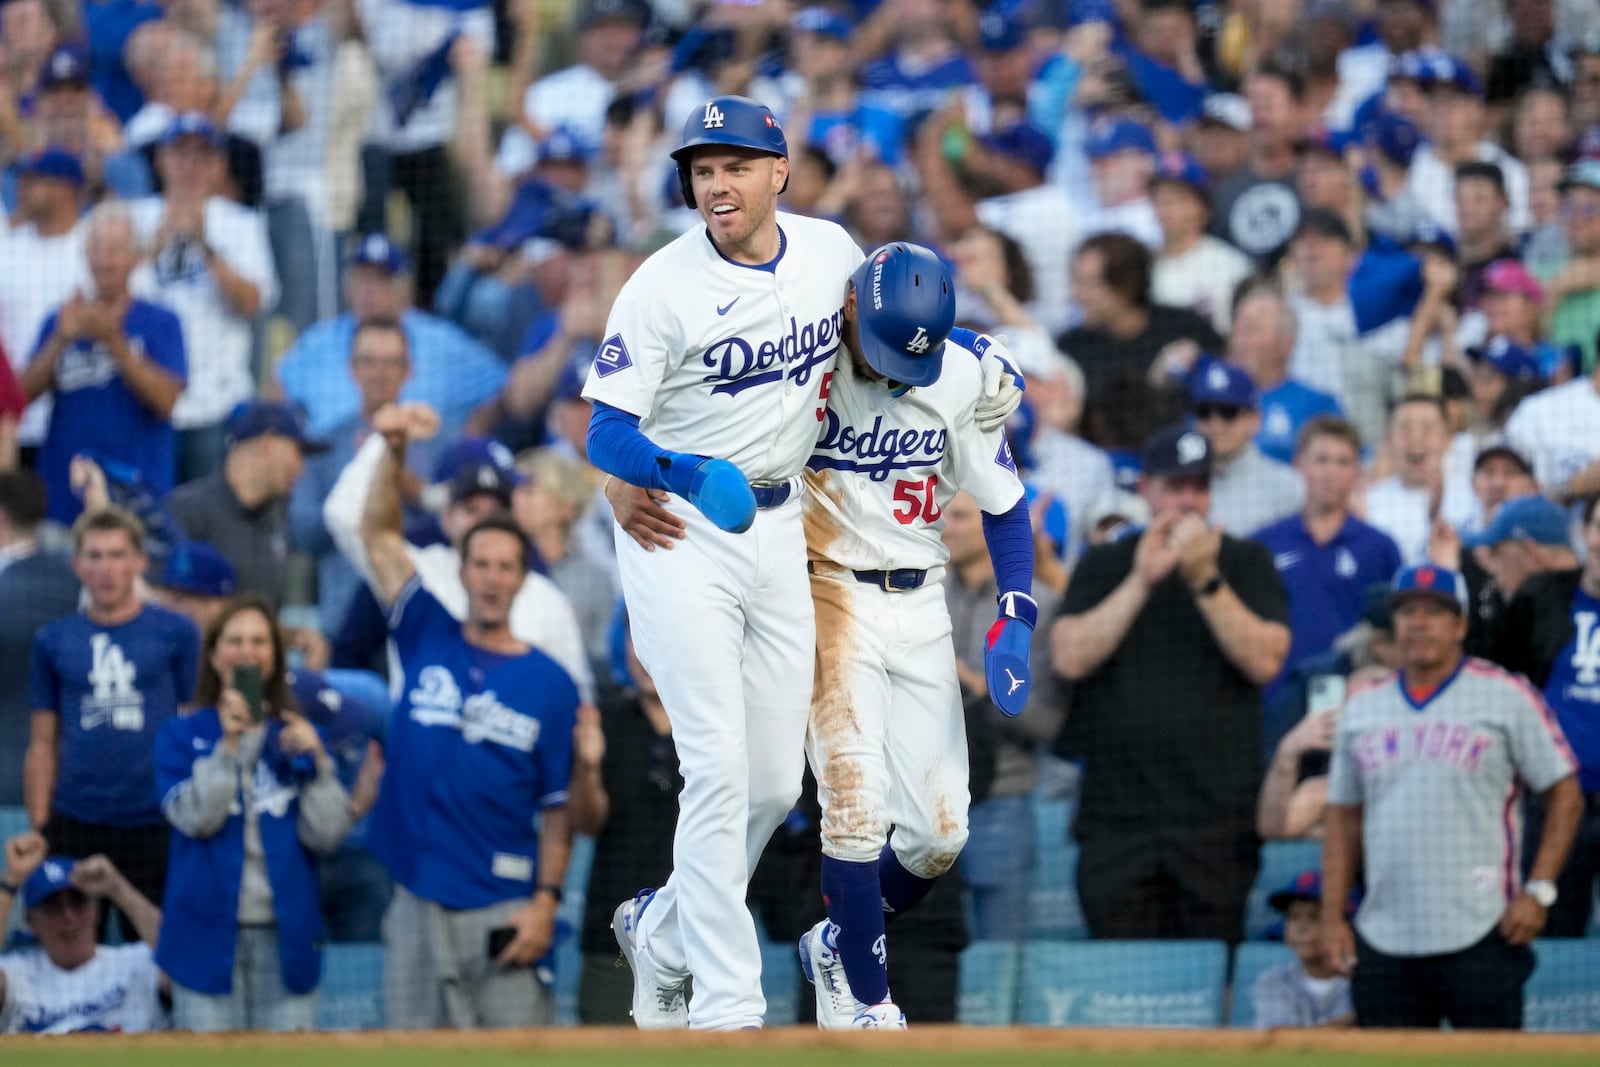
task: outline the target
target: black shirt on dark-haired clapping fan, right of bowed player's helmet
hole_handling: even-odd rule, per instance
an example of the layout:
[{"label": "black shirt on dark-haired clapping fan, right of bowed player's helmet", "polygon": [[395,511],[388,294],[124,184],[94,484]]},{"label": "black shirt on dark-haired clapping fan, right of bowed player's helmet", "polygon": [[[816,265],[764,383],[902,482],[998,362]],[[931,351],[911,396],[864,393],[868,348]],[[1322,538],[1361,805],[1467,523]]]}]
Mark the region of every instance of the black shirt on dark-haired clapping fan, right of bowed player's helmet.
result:
[{"label": "black shirt on dark-haired clapping fan, right of bowed player's helmet", "polygon": [[1058,346],[1083,368],[1083,437],[1101,448],[1138,450],[1155,430],[1171,426],[1184,410],[1179,382],[1155,389],[1147,382],[1150,363],[1173,341],[1194,341],[1206,352],[1221,352],[1222,338],[1211,323],[1186,307],[1150,307],[1144,331],[1117,338],[1093,326],[1061,334]]}]

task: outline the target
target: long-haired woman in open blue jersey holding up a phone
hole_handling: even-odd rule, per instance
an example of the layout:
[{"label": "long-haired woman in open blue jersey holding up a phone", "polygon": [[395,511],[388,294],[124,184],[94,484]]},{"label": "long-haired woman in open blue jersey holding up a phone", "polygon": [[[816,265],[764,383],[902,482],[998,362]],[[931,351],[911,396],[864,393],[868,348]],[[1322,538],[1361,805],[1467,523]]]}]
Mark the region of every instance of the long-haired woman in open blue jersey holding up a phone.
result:
[{"label": "long-haired woman in open blue jersey holding up a phone", "polygon": [[309,1030],[322,973],[317,857],[350,829],[322,736],[290,691],[283,637],[254,593],[206,630],[192,715],[155,742],[173,825],[162,944],[179,1029]]}]

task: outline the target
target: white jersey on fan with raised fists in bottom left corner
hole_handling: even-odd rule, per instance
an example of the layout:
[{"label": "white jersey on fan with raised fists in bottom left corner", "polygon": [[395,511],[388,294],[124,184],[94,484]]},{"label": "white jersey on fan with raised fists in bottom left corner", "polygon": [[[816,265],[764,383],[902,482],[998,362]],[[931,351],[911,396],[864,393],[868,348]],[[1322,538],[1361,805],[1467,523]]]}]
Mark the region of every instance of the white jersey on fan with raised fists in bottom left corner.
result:
[{"label": "white jersey on fan with raised fists in bottom left corner", "polygon": [[0,1033],[162,1029],[162,976],[142,942],[99,945],[93,960],[72,971],[43,952],[0,957],[0,971],[6,982]]}]

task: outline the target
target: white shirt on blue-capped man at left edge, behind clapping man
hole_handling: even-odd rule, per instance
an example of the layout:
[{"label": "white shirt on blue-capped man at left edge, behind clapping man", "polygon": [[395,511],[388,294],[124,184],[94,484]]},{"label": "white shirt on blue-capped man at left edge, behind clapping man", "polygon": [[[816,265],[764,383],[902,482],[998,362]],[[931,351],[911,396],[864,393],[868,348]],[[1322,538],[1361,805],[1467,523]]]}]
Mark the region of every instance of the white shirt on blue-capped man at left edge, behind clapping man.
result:
[{"label": "white shirt on blue-capped man at left edge, behind clapping man", "polygon": [[[34,358],[45,318],[78,290],[85,294],[90,290],[83,226],[59,237],[40,237],[32,224],[14,230],[0,227],[0,344],[18,376]],[[50,394],[27,406],[18,437],[22,445],[37,446],[46,429]]]}]

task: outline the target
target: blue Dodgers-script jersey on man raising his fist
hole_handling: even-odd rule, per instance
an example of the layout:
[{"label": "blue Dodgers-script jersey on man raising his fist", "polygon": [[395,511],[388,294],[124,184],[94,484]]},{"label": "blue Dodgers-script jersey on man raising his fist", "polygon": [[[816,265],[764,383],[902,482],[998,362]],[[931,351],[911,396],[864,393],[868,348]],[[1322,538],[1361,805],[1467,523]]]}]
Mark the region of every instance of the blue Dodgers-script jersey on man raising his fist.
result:
[{"label": "blue Dodgers-script jersey on man raising his fist", "polygon": [[413,577],[389,609],[405,688],[370,845],[406,889],[472,909],[533,893],[541,808],[566,803],[578,686],[538,649],[467,643]]}]

